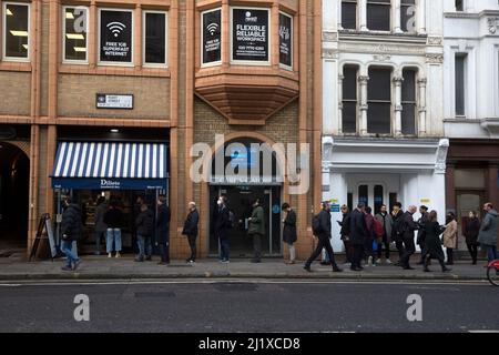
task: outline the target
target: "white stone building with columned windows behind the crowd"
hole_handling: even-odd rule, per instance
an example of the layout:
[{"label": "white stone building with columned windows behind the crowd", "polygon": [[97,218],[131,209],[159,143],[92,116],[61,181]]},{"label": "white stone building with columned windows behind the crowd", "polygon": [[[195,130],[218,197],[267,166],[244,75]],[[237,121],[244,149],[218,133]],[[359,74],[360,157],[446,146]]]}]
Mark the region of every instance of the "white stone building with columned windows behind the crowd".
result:
[{"label": "white stone building with columned windows behind the crowd", "polygon": [[[323,1],[323,197],[441,211],[444,1]],[[343,250],[334,223],[334,248]]]}]

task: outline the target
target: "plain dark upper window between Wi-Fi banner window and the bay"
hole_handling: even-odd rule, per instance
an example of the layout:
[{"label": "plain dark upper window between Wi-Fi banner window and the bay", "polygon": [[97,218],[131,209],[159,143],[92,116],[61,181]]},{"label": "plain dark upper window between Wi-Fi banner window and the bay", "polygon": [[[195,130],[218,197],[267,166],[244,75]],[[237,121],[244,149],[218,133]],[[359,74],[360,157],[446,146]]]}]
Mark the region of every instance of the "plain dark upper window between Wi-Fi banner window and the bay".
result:
[{"label": "plain dark upper window between Wi-Fi banner window and the bay", "polygon": [[144,64],[166,65],[166,12],[144,11],[143,23]]}]

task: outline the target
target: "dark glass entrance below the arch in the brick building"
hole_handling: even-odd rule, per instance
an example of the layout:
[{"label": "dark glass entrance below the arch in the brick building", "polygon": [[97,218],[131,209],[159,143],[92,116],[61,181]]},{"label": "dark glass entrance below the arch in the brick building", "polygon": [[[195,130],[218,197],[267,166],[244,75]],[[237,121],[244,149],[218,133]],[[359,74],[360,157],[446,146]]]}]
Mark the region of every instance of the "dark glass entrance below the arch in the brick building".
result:
[{"label": "dark glass entrance below the arch in the brick building", "polygon": [[253,202],[259,199],[265,212],[265,236],[263,239],[263,256],[281,256],[281,186],[264,185],[212,185],[210,187],[210,254],[220,253],[215,237],[213,214],[220,195],[227,197],[228,209],[234,213],[235,226],[230,230],[231,257],[253,257],[253,240],[247,235],[248,222],[253,211]]}]

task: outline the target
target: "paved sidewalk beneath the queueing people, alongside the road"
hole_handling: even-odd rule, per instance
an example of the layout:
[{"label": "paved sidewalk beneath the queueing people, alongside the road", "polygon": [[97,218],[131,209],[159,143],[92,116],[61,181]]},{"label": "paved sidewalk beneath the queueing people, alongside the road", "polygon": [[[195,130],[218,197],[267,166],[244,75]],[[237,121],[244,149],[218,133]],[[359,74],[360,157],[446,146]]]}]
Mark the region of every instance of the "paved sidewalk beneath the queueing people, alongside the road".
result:
[{"label": "paved sidewalk beneath the queueing people, alongside the road", "polygon": [[450,273],[441,273],[434,261],[431,273],[424,273],[421,266],[405,271],[394,265],[365,267],[363,272],[353,272],[348,264],[339,264],[343,273],[332,273],[330,266],[314,263],[313,273],[303,270],[303,262],[286,265],[282,260],[264,260],[253,264],[248,260],[233,260],[222,264],[217,260],[201,260],[194,265],[183,261],[172,261],[169,266],[153,262],[136,263],[133,257],[108,258],[106,256],[83,256],[83,263],[77,272],[63,272],[63,260],[38,261],[28,263],[22,260],[0,258],[0,281],[14,280],[169,280],[169,278],[298,278],[298,280],[390,280],[390,281],[485,281],[485,261],[471,265],[468,261],[456,263]]}]

